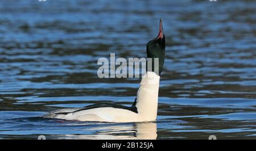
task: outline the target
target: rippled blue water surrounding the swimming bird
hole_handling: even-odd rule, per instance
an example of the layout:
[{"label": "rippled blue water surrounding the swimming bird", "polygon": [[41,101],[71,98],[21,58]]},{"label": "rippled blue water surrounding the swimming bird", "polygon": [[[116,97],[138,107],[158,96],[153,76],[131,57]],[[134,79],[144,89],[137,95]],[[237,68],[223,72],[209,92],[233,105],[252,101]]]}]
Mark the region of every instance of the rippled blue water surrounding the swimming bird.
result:
[{"label": "rippled blue water surrounding the swimming bird", "polygon": [[[1,1],[0,139],[256,139],[255,1]],[[140,79],[100,79],[97,60],[145,57],[164,19],[151,123],[43,119],[131,105]]]}]

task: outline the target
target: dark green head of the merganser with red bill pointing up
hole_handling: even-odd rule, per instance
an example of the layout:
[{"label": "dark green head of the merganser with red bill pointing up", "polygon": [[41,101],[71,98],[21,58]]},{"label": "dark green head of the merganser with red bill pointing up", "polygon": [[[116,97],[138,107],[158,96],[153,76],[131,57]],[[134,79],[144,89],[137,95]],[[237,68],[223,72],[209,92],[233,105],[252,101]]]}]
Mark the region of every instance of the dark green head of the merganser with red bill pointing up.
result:
[{"label": "dark green head of the merganser with red bill pointing up", "polygon": [[[162,72],[163,70],[163,64],[164,64],[164,56],[166,54],[166,39],[164,37],[164,32],[163,32],[163,19],[160,19],[160,27],[159,27],[159,33],[158,36],[153,39],[148,41],[147,43],[147,58],[152,58],[152,62],[147,61],[147,66],[148,64],[152,64],[152,69],[148,69],[148,72],[155,72],[156,74]],[[159,58],[159,70],[157,72],[157,69],[154,68],[155,66],[155,61],[154,58]]]}]

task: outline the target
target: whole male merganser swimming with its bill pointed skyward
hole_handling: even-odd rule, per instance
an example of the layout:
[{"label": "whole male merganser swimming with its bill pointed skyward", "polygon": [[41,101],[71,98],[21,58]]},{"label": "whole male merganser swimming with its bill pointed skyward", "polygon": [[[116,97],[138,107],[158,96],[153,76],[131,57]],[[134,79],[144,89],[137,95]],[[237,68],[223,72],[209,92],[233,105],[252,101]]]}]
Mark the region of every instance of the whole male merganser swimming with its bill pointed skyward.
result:
[{"label": "whole male merganser swimming with its bill pointed skyward", "polygon": [[[147,57],[152,58],[152,70],[143,75],[137,97],[131,107],[114,103],[99,103],[82,108],[52,111],[44,118],[79,121],[137,122],[156,120],[160,73],[163,70],[166,42],[163,19],[160,19],[158,36],[147,43]],[[158,72],[154,71],[154,58],[159,58]]]}]

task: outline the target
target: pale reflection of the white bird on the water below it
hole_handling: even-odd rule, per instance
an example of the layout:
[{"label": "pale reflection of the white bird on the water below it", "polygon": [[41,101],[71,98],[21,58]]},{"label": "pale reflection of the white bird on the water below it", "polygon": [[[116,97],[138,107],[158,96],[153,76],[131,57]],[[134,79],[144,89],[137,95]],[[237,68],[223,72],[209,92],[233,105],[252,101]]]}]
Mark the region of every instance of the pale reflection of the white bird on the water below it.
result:
[{"label": "pale reflection of the white bird on the water below it", "polygon": [[[73,139],[138,139],[138,140],[155,140],[156,123],[143,122],[134,123],[131,125],[108,125],[106,127],[90,128],[90,131],[95,131],[94,135],[65,135],[66,137],[72,137]],[[88,129],[87,129],[88,130]]]}]

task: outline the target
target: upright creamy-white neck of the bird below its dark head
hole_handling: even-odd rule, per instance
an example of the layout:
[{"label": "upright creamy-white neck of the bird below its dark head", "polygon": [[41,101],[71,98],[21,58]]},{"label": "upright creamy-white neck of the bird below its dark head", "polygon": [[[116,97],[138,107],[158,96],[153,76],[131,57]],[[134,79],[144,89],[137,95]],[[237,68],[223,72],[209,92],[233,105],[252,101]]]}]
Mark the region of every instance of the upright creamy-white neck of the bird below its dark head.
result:
[{"label": "upright creamy-white neck of the bird below its dark head", "polygon": [[138,114],[147,120],[155,120],[158,111],[159,75],[147,72],[143,75],[137,92]]}]

